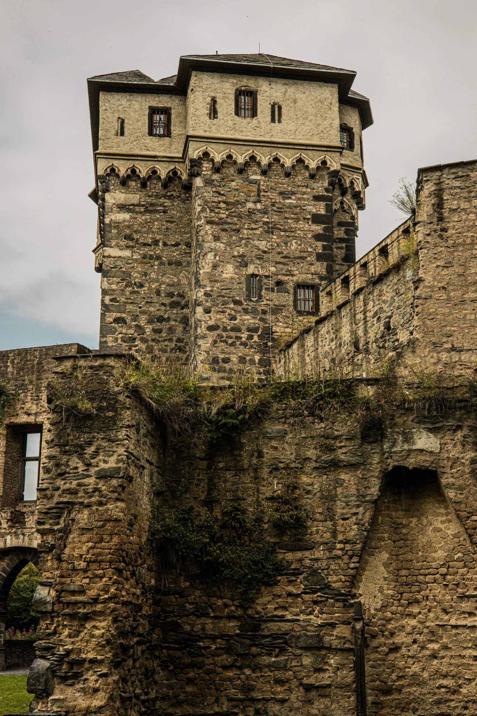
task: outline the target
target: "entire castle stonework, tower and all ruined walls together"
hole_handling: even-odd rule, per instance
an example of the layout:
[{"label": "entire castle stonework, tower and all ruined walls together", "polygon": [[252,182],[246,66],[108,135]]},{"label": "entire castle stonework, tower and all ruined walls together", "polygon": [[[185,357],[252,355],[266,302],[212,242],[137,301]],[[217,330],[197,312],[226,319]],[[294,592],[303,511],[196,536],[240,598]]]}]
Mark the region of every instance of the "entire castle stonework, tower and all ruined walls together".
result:
[{"label": "entire castle stonework, tower and all ruined walls together", "polygon": [[[99,352],[0,353],[18,396],[0,432],[0,622],[34,562],[34,712],[475,712],[477,161],[419,170],[415,215],[355,262],[372,117],[353,78],[214,55],[182,57],[159,82],[89,80]],[[470,392],[439,414],[402,400],[378,415],[277,405],[213,450],[171,442],[114,390],[117,362],[141,351],[179,354],[203,382],[344,369],[371,396],[393,359],[402,380],[411,365]],[[85,415],[58,400],[79,365]],[[24,500],[35,432],[39,483]],[[308,530],[277,540],[280,574],[251,606],[164,573],[152,504],[252,513],[289,473]]]}]

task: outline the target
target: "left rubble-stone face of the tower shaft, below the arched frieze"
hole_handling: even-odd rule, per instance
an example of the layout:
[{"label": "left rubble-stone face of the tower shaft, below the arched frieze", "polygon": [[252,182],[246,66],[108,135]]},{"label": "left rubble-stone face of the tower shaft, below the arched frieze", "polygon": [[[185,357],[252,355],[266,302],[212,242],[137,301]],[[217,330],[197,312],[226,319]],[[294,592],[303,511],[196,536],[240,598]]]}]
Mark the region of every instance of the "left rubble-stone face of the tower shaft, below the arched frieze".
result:
[{"label": "left rubble-stone face of the tower shaft, below the arched frieze", "polygon": [[99,348],[184,352],[189,345],[191,209],[181,178],[151,176],[105,194]]}]

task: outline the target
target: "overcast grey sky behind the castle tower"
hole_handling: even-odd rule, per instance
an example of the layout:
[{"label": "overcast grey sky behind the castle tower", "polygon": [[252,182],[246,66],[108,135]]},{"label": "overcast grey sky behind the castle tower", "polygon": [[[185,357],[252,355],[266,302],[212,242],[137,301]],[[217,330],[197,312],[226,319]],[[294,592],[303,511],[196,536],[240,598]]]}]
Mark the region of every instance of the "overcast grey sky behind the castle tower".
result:
[{"label": "overcast grey sky behind the castle tower", "polygon": [[475,0],[16,0],[2,4],[0,349],[94,348],[99,274],[87,77],[257,52],[353,69],[375,125],[358,256],[418,167],[477,158]]}]

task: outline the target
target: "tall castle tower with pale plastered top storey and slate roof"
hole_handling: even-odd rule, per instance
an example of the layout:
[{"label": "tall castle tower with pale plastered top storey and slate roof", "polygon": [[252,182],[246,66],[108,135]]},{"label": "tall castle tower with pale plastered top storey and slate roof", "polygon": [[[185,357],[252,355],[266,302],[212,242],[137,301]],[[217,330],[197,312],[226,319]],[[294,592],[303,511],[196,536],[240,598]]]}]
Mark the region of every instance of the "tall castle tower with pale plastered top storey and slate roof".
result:
[{"label": "tall castle tower with pale plastered top storey and slate roof", "polygon": [[[265,375],[355,261],[373,118],[355,72],[265,54],[88,80],[100,350]],[[208,369],[205,370],[205,365]]]}]

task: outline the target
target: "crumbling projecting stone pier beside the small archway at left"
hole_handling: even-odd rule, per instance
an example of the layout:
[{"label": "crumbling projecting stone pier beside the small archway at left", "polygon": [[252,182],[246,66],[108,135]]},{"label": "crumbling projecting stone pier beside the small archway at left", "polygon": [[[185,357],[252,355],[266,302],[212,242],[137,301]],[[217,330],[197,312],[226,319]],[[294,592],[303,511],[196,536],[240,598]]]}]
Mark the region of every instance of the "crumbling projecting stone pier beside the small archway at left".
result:
[{"label": "crumbling projecting stone pier beside the small archway at left", "polygon": [[[68,366],[63,359],[54,371],[63,386]],[[111,390],[113,369],[112,359],[89,363],[84,387],[94,414],[49,408],[36,509],[47,593],[36,642],[46,661],[32,689],[40,710],[149,712],[154,659],[144,645],[154,644],[157,581],[147,528],[161,438],[140,405]],[[48,669],[54,692],[44,687]]]}]

